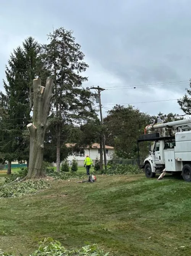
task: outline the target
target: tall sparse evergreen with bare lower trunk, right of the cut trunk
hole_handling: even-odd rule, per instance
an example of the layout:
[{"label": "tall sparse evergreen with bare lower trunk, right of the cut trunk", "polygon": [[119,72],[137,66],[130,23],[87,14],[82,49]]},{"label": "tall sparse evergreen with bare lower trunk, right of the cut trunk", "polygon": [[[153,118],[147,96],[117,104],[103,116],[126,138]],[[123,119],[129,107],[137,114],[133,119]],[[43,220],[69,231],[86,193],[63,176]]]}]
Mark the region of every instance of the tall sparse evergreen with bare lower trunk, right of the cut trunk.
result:
[{"label": "tall sparse evergreen with bare lower trunk, right of the cut trunk", "polygon": [[52,111],[56,122],[57,171],[60,172],[62,129],[65,124],[95,117],[93,94],[82,87],[87,77],[81,75],[88,65],[83,61],[81,46],[75,42],[73,31],[61,27],[50,33],[42,58],[51,71],[55,91]]}]

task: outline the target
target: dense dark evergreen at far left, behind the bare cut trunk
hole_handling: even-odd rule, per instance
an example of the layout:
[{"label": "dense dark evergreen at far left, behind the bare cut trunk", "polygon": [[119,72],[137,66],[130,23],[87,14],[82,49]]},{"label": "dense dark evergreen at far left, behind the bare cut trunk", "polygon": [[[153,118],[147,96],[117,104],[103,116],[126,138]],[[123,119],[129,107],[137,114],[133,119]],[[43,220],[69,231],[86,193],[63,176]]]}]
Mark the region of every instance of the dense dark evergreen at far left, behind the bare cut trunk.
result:
[{"label": "dense dark evergreen at far left, behind the bare cut trunk", "polygon": [[1,93],[6,118],[1,122],[2,133],[0,151],[8,160],[8,173],[11,161],[29,159],[29,134],[26,124],[31,121],[32,80],[40,72],[38,55],[40,46],[32,37],[26,38],[23,47],[19,46],[10,55],[5,69],[6,81],[3,80],[6,94]]}]

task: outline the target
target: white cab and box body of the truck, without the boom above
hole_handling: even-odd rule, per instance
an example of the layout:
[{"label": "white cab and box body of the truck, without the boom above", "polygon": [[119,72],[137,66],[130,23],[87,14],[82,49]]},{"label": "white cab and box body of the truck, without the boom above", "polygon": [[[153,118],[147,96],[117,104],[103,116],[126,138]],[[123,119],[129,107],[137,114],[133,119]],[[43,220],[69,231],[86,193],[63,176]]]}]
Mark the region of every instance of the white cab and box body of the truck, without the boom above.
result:
[{"label": "white cab and box body of the truck, without the boom above", "polygon": [[[149,134],[144,141],[149,141]],[[191,131],[177,132],[175,137],[158,137],[152,139],[153,142],[153,149],[141,167],[146,177],[152,178],[156,173],[165,171],[172,175],[182,175],[185,181],[191,182]]]}]

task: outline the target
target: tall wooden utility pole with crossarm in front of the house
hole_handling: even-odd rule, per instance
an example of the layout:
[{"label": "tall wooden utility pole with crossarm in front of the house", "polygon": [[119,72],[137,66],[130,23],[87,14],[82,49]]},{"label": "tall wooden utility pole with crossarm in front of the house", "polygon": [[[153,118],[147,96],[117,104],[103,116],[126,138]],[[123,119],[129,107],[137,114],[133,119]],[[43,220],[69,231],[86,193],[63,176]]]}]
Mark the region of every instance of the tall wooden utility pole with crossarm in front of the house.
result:
[{"label": "tall wooden utility pole with crossarm in front of the house", "polygon": [[103,149],[104,149],[104,165],[105,170],[107,170],[107,158],[106,158],[106,150],[105,150],[105,134],[104,134],[104,122],[102,117],[102,104],[101,104],[101,91],[104,91],[105,89],[97,87],[91,87],[90,89],[95,89],[98,92],[98,98],[99,98],[99,111],[100,111],[100,119],[102,124],[102,132],[101,132],[101,138],[100,138],[100,168],[103,168]]}]

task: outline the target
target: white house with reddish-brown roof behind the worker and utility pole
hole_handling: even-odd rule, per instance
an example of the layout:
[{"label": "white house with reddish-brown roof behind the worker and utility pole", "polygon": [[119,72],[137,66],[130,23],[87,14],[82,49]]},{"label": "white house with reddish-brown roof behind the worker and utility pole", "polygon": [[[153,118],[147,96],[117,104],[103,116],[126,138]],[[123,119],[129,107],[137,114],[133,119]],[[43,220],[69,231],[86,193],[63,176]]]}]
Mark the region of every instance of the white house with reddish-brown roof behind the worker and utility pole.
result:
[{"label": "white house with reddish-brown roof behind the worker and utility pole", "polygon": [[[66,147],[72,147],[73,144],[66,144]],[[114,153],[114,147],[110,147],[105,145],[106,149],[106,158],[107,161],[112,158],[112,155]],[[71,161],[75,159],[78,162],[78,166],[84,165],[84,158],[86,155],[89,155],[91,157],[92,161],[95,163],[95,159],[100,159],[100,144],[94,143],[91,147],[87,147],[84,149],[84,156],[75,156],[75,155],[69,155],[67,160],[69,161],[69,164],[71,164]],[[103,160],[104,160],[104,154],[103,154]]]}]

